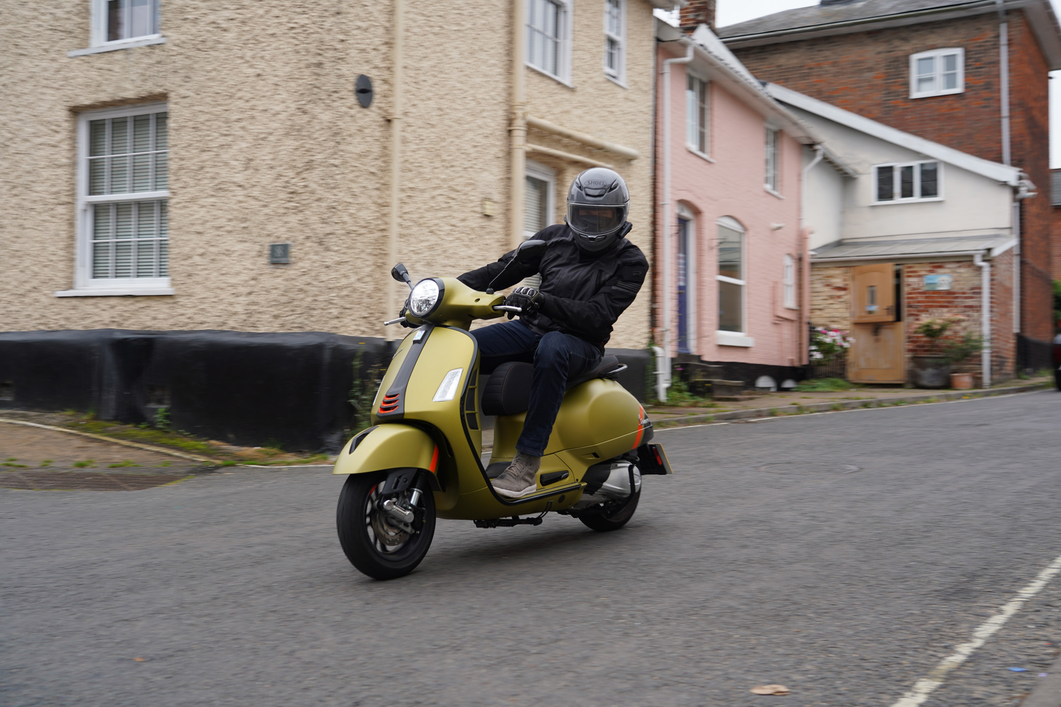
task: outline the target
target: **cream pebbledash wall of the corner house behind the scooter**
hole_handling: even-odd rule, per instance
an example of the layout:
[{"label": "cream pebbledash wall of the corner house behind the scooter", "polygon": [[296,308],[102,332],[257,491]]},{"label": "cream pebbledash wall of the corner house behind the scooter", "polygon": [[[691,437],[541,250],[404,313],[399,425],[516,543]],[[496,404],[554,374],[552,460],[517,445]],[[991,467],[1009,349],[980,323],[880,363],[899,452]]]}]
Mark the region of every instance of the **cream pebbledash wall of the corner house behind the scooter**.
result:
[{"label": "cream pebbledash wall of the corner house behind the scooter", "polygon": [[[89,46],[90,4],[57,0],[31,8],[0,0],[0,332],[10,333],[7,344],[77,331],[85,332],[82,338],[95,333],[98,341],[85,351],[144,331],[152,340],[158,332],[206,331],[206,339],[229,342],[291,333],[295,338],[275,349],[282,360],[298,336],[351,337],[375,351],[384,338],[407,333],[381,325],[397,316],[385,311],[386,288],[395,288],[398,302],[404,297],[389,278],[387,259],[392,4],[243,0],[219,7],[168,0],[160,21],[166,43],[69,57]],[[525,69],[528,113],[632,147],[640,159],[534,129],[528,142],[613,163],[631,192],[629,237],[651,258],[651,5],[628,3],[625,85],[604,75],[603,3],[574,3],[573,13],[571,79],[563,84]],[[405,3],[397,251],[414,278],[455,276],[511,247],[510,15],[503,0]],[[369,108],[353,92],[359,74],[373,83]],[[170,114],[175,295],[55,297],[74,285],[77,113],[155,101],[166,101]],[[560,218],[566,182],[586,165],[529,157],[557,169]],[[484,199],[497,204],[495,215],[484,214]],[[292,244],[292,262],[269,265],[268,244],[280,242]],[[644,349],[650,297],[645,287],[618,322],[611,347]],[[306,346],[319,349],[315,341]],[[68,364],[88,366],[95,354],[84,356]],[[14,359],[0,354],[0,369],[13,367]],[[47,377],[40,367],[20,370]],[[19,395],[28,405],[52,400],[33,392],[47,381],[23,373],[14,406]],[[341,378],[329,385],[343,388]],[[229,392],[239,394],[237,388]],[[172,414],[179,417],[175,389],[172,399]],[[225,409],[224,396],[211,405]],[[59,400],[48,406],[75,407]],[[236,414],[242,408],[229,409]],[[332,446],[334,429],[302,435],[298,445],[312,447],[306,441],[312,438]]]}]

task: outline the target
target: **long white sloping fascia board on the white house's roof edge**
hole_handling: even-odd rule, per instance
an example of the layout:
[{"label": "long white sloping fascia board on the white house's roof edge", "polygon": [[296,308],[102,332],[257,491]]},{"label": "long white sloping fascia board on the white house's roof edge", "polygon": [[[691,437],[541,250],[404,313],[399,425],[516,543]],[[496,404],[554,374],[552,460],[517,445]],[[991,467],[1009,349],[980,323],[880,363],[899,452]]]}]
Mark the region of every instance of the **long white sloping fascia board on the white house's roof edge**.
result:
[{"label": "long white sloping fascia board on the white house's roof edge", "polygon": [[974,157],[953,147],[941,145],[938,142],[919,138],[916,135],[877,123],[875,120],[853,113],[843,108],[838,108],[824,101],[812,99],[810,95],[778,86],[777,84],[767,84],[766,91],[782,103],[796,106],[797,108],[820,116],[834,123],[846,125],[885,142],[890,142],[900,147],[906,147],[912,152],[932,157],[940,162],[953,164],[954,166],[1009,184],[1010,187],[1016,187],[1021,181],[1021,171],[1017,167],[991,162],[990,160]]}]

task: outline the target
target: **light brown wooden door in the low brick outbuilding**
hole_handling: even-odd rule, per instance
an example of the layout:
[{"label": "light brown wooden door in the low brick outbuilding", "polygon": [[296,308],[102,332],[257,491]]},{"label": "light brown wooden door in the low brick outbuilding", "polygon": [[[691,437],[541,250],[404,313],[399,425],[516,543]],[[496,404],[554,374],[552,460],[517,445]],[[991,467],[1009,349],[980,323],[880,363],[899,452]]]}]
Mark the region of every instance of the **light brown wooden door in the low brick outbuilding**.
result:
[{"label": "light brown wooden door in the low brick outbuilding", "polygon": [[893,263],[851,268],[851,321],[855,342],[848,351],[853,383],[904,383],[903,323],[898,321]]}]

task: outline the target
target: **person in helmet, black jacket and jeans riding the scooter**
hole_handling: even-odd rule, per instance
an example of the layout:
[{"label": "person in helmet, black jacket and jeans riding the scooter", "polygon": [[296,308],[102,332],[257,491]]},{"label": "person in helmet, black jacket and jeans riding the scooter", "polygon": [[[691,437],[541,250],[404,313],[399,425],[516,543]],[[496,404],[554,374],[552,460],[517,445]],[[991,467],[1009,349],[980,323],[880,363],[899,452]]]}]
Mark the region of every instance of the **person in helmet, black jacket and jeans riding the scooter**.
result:
[{"label": "person in helmet, black jacket and jeans riding the scooter", "polygon": [[505,298],[505,304],[523,310],[517,321],[472,332],[483,373],[509,360],[534,363],[530,407],[516,443],[516,458],[493,480],[503,496],[519,498],[535,491],[535,475],[568,379],[601,360],[612,324],[645,280],[648,261],[625,237],[632,228],[626,220],[629,209],[630,195],[619,174],[605,167],[587,170],[568,192],[566,224],[535,234],[549,244],[540,261],[516,265],[494,282],[515,257],[514,250],[457,278],[474,289],[502,289],[541,276],[540,289],[517,287]]}]

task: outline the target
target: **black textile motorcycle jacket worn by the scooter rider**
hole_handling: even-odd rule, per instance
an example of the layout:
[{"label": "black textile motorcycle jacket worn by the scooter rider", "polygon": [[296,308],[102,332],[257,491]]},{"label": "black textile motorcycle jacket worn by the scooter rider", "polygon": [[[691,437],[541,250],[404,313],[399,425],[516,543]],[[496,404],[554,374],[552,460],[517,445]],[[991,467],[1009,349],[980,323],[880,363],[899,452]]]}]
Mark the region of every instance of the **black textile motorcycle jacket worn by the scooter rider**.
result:
[{"label": "black textile motorcycle jacket worn by the scooter rider", "polygon": [[[636,245],[623,238],[602,253],[587,253],[574,242],[564,224],[550,226],[535,234],[549,243],[539,262],[514,266],[493,283],[494,289],[510,287],[524,278],[541,275],[538,311],[521,319],[538,334],[563,332],[596,344],[611,337],[612,324],[637,297],[648,271],[648,261]],[[473,289],[486,289],[490,281],[516,254],[509,251],[490,263],[457,278]]]}]

